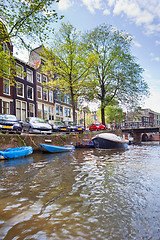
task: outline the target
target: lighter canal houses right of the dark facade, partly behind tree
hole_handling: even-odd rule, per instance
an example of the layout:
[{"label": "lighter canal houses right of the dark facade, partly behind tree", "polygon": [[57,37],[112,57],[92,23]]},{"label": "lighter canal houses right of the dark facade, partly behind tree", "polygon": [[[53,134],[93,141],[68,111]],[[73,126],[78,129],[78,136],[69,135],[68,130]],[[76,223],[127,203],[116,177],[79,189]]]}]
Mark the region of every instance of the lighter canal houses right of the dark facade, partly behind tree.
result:
[{"label": "lighter canal houses right of the dark facade, partly behind tree", "polygon": [[[69,95],[60,92],[58,89],[53,90],[44,87],[49,78],[41,71],[44,61],[40,56],[41,51],[42,46],[32,50],[29,56],[29,62],[36,72],[37,116],[47,120],[73,121]],[[76,121],[78,121],[78,113],[77,110]]]}]

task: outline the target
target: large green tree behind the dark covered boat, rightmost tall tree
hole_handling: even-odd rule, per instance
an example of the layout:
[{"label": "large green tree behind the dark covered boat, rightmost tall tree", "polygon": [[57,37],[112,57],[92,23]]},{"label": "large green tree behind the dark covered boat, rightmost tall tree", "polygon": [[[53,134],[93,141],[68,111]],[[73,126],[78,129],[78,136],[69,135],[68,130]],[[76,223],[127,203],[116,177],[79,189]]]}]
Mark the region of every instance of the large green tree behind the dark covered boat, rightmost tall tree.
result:
[{"label": "large green tree behind the dark covered boat, rightmost tall tree", "polygon": [[101,102],[101,119],[105,124],[106,106],[115,101],[139,104],[143,95],[148,94],[148,85],[142,78],[143,69],[130,54],[132,38],[128,34],[100,25],[87,32],[84,39],[88,49],[98,55],[98,62],[93,66],[95,87],[90,88],[90,98]]}]

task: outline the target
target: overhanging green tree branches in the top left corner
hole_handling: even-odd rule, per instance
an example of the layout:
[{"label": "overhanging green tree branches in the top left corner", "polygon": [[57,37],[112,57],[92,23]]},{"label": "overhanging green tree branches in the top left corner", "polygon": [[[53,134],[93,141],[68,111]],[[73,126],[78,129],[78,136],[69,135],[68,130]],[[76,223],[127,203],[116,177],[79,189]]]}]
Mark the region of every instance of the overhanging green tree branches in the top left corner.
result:
[{"label": "overhanging green tree branches in the top left corner", "polygon": [[[12,42],[30,48],[31,43],[42,42],[53,31],[58,14],[54,3],[59,0],[4,0],[0,2],[0,77],[14,83],[15,61],[12,52],[4,51]],[[60,17],[61,18],[61,17]],[[10,71],[8,71],[10,69]]]}]

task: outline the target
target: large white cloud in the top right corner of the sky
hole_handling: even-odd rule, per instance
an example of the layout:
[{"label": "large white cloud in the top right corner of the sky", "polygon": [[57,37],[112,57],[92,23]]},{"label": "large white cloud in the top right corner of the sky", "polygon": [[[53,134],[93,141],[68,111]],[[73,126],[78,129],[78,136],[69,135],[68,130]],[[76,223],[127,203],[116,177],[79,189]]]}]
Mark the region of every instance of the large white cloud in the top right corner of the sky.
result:
[{"label": "large white cloud in the top right corner of the sky", "polygon": [[148,34],[160,32],[159,0],[108,0],[108,7],[114,15],[126,15],[143,26]]}]

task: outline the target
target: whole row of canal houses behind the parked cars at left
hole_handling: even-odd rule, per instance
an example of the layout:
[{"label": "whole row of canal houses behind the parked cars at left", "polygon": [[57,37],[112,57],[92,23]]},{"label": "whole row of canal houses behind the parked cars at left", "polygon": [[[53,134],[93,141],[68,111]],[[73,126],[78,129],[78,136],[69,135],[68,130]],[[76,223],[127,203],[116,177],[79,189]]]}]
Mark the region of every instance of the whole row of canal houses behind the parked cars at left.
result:
[{"label": "whole row of canal houses behind the parked cars at left", "polygon": [[[4,25],[4,29],[5,25]],[[2,50],[13,56],[11,42],[3,42]],[[42,46],[32,50],[29,63],[14,58],[14,71],[7,69],[0,75],[0,113],[14,114],[18,120],[27,117],[40,117],[46,120],[73,121],[72,105],[69,95],[58,89],[47,89],[44,83],[49,81],[41,71],[44,59],[40,52]],[[3,60],[5,65],[5,59]],[[3,66],[1,67],[3,71]],[[10,73],[14,76],[10,80]],[[76,110],[76,121],[79,111]]]}]

